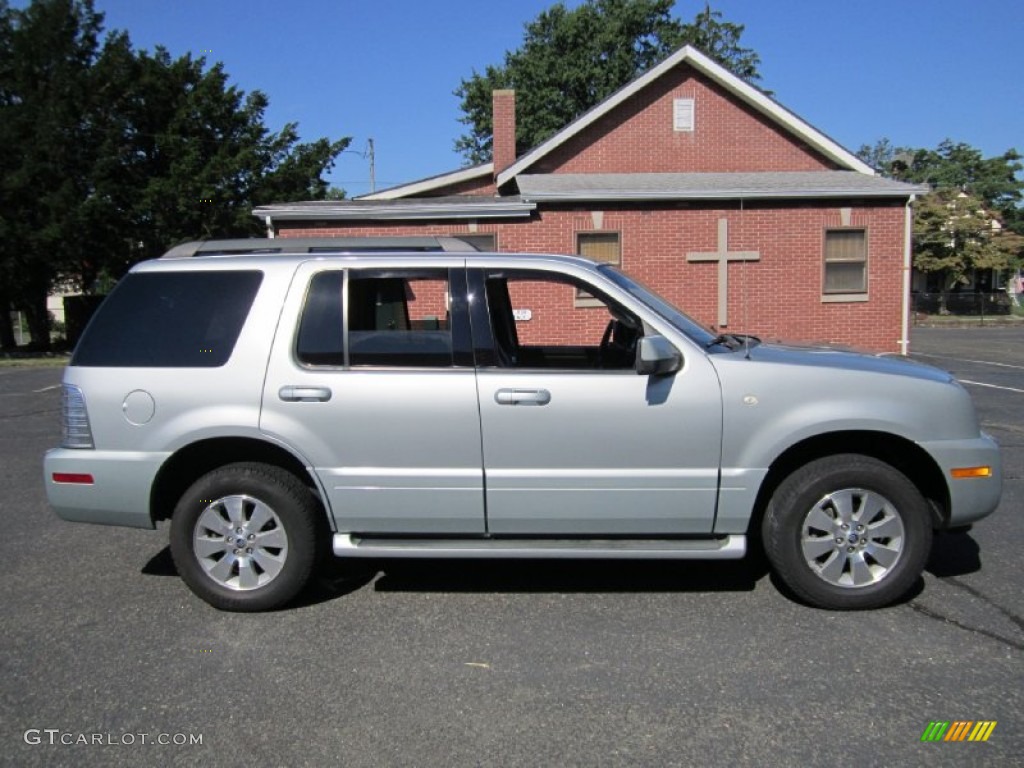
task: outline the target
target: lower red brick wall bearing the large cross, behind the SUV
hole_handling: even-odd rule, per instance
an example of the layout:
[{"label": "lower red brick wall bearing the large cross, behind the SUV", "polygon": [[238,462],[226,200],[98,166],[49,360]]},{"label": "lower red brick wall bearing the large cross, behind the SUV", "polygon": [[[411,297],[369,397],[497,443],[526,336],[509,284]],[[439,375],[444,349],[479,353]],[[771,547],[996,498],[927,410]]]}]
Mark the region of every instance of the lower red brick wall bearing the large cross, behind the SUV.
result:
[{"label": "lower red brick wall bearing the large cross, behind the SUV", "polygon": [[[600,228],[622,233],[623,269],[638,278],[705,325],[718,317],[718,265],[690,263],[690,252],[715,251],[718,220],[729,221],[730,251],[759,251],[760,261],[729,265],[729,329],[765,339],[850,344],[899,351],[901,330],[902,205],[855,206],[850,225],[863,226],[868,243],[868,301],[821,300],[824,231],[842,223],[839,205],[693,207],[659,210],[608,208],[600,227],[585,210],[545,210],[529,221],[480,223],[497,232],[504,252],[573,253],[575,233]],[[289,222],[283,226],[294,227]],[[283,228],[281,237],[460,234],[460,222],[341,224]],[[572,309],[564,291],[560,311]],[[530,307],[521,307],[530,308]],[[536,308],[535,308],[536,309]],[[581,310],[587,311],[587,310]],[[595,312],[600,310],[594,310]],[[543,335],[543,312],[531,336]],[[529,325],[529,324],[523,324]]]}]

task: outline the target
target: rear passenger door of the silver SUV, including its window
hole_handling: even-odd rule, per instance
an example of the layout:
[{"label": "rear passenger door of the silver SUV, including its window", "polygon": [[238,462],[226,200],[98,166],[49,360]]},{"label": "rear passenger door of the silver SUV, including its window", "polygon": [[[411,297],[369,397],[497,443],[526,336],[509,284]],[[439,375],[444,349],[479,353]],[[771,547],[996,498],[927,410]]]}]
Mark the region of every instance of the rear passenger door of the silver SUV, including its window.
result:
[{"label": "rear passenger door of the silver SUV, including its window", "polygon": [[313,467],[339,531],[482,532],[462,261],[377,263],[299,267],[260,427]]}]

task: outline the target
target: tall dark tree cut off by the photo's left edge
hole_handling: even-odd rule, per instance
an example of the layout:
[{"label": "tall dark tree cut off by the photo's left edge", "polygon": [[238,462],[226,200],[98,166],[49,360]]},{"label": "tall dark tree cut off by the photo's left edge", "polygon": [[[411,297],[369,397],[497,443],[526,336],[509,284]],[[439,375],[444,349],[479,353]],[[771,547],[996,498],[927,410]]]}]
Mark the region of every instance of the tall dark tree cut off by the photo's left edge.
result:
[{"label": "tall dark tree cut off by the photo's left edge", "polygon": [[88,196],[89,70],[101,16],[91,3],[0,6],[0,314],[23,310],[33,341],[49,344],[46,296],[77,255]]}]

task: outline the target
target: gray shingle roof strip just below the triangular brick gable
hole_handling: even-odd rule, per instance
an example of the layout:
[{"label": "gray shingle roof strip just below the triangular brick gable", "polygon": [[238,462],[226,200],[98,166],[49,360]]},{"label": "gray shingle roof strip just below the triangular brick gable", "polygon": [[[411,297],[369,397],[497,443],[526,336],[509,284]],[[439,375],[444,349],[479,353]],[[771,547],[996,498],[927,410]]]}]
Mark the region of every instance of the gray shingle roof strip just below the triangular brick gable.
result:
[{"label": "gray shingle roof strip just below the triangular brick gable", "polygon": [[927,186],[856,171],[551,173],[516,177],[523,201],[907,198]]}]

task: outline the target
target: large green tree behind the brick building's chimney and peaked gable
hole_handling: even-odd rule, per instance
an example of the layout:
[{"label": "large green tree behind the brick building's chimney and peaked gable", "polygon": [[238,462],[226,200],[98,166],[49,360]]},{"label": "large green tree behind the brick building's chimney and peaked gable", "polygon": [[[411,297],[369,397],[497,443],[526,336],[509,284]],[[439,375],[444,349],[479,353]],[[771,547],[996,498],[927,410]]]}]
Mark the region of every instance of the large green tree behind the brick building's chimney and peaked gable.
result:
[{"label": "large green tree behind the brick building's chimney and peaked gable", "polygon": [[490,159],[492,92],[516,90],[516,152],[535,146],[686,43],[755,83],[760,59],[739,45],[742,25],[720,20],[710,4],[692,24],[673,17],[675,0],[561,2],[525,27],[522,45],[463,80],[460,122],[469,130],[455,142],[469,163]]}]

